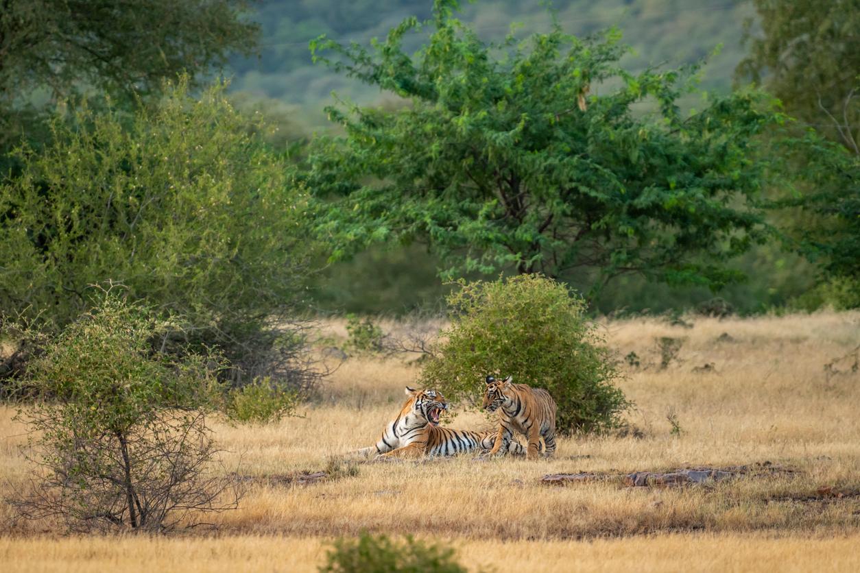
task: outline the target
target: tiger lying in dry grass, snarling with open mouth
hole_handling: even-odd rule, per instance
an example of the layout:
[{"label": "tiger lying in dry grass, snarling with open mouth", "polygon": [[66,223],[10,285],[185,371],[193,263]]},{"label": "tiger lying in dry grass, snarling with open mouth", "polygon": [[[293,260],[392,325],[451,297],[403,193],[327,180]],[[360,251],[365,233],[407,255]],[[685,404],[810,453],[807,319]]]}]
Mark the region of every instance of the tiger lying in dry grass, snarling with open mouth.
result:
[{"label": "tiger lying in dry grass, snarling with open mouth", "polygon": [[[361,448],[357,454],[381,457],[412,457],[422,455],[451,455],[494,447],[495,432],[473,432],[439,428],[439,414],[448,409],[448,402],[436,390],[415,390],[406,387],[409,397],[397,417],[385,426],[376,447]],[[525,454],[519,442],[506,444],[510,454]]]}]

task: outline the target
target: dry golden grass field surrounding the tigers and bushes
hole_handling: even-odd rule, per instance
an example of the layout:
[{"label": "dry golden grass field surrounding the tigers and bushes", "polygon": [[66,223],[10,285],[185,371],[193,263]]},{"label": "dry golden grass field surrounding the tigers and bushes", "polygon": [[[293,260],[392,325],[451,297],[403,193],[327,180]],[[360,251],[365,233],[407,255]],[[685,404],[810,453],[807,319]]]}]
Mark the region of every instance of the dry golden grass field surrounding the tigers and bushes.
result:
[{"label": "dry golden grass field surrounding the tigers and bushes", "polygon": [[[860,487],[856,357],[825,369],[860,344],[860,314],[691,321],[691,328],[657,319],[604,324],[619,360],[631,351],[640,358],[639,368],[624,366],[619,384],[636,402],[629,418],[641,438],[562,439],[554,460],[537,462],[464,456],[365,464],[358,476],[316,485],[261,480],[239,509],[216,516],[218,539],[42,537],[56,533],[56,524],[13,525],[3,504],[0,533],[12,537],[0,540],[0,562],[32,564],[28,570],[61,564],[166,570],[185,569],[181,564],[191,558],[201,570],[307,570],[322,559],[322,539],[370,529],[451,539],[464,564],[500,570],[507,570],[506,558],[527,570],[656,570],[679,563],[690,570],[857,570],[850,548],[860,540],[860,498],[815,492]],[[341,327],[330,332],[337,336]],[[724,332],[728,340],[720,339]],[[683,338],[666,369],[659,368],[660,337]],[[710,371],[694,371],[709,363]],[[402,387],[421,386],[419,375],[399,360],[350,358],[303,418],[261,428],[216,424],[217,435],[232,452],[228,463],[241,457],[240,471],[250,476],[322,469],[332,455],[375,442],[402,403]],[[671,431],[670,412],[679,435]],[[484,424],[471,412],[454,423]],[[8,496],[25,472],[17,453],[22,429],[8,410],[0,414],[0,436],[0,493]],[[765,460],[796,472],[678,489],[556,488],[538,481],[550,472]]]}]

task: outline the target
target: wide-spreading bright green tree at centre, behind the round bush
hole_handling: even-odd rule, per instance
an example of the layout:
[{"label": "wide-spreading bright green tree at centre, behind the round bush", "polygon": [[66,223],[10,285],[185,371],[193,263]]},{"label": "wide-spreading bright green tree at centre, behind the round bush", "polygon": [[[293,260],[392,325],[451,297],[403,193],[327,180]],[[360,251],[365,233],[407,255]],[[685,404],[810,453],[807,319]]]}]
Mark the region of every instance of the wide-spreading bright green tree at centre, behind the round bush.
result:
[{"label": "wide-spreading bright green tree at centre, behind the round bush", "polygon": [[[315,58],[406,98],[396,111],[329,108],[346,131],[310,151],[320,231],[339,259],[372,241],[428,241],[446,277],[598,269],[719,286],[722,261],[763,235],[755,137],[774,116],[756,94],[684,117],[685,70],[630,74],[610,31],[488,46],[439,0],[429,41],[407,19],[372,52],[331,40]],[[599,94],[588,95],[593,89]],[[648,104],[654,107],[648,112]]]}]

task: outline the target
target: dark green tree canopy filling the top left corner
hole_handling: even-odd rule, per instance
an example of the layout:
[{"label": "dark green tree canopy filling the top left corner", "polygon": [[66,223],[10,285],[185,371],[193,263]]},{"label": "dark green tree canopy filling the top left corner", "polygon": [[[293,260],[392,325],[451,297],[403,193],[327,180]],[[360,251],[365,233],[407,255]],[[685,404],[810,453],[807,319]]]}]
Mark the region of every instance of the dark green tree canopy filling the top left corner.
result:
[{"label": "dark green tree canopy filling the top left corner", "polygon": [[248,14],[248,0],[0,0],[0,150],[32,135],[40,102],[149,94],[249,53]]}]

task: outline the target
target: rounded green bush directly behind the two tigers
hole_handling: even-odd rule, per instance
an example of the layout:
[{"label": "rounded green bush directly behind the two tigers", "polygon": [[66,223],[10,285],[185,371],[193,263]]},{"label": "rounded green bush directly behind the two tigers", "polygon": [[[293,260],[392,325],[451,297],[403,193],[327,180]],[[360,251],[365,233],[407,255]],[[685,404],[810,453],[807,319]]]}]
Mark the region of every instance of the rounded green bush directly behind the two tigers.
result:
[{"label": "rounded green bush directly behind the two tigers", "polygon": [[423,381],[450,398],[476,403],[484,377],[513,375],[544,387],[558,404],[556,427],[591,432],[615,427],[630,403],[612,385],[615,367],[586,303],[539,275],[460,283],[454,311]]}]

